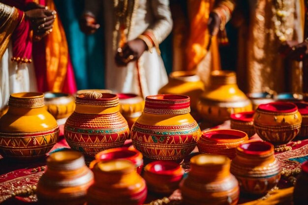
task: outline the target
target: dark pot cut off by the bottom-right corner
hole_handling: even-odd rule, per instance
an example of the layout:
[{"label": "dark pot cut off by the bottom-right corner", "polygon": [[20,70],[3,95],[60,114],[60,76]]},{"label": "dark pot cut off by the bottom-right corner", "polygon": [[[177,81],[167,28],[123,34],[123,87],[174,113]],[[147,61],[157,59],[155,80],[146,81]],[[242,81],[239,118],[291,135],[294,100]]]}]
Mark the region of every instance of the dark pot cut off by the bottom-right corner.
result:
[{"label": "dark pot cut off by the bottom-right corner", "polygon": [[294,205],[307,205],[308,202],[308,161],[302,164],[302,173],[297,177],[294,192]]}]

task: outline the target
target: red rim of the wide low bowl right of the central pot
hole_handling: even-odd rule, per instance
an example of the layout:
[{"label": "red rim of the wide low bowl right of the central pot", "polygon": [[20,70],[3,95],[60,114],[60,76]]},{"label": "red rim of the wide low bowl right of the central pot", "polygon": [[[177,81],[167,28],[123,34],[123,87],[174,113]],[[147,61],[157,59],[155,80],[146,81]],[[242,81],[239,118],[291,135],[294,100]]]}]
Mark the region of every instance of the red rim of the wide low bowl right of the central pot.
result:
[{"label": "red rim of the wide low bowl right of the central pot", "polygon": [[[237,135],[236,135],[237,134]],[[213,136],[213,135],[220,135]],[[224,137],[223,137],[224,136]],[[231,137],[236,136],[236,137]],[[225,142],[225,141],[242,141],[244,138],[248,138],[247,133],[234,130],[234,129],[213,129],[202,133],[201,139],[206,139],[213,142]],[[230,142],[231,143],[231,142]]]}]

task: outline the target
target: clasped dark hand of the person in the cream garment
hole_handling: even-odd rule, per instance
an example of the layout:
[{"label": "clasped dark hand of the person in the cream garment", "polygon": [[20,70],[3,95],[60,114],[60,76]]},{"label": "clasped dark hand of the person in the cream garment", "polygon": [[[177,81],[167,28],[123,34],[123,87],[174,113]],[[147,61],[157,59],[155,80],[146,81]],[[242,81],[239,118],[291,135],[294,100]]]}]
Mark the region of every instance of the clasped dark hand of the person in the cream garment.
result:
[{"label": "clasped dark hand of the person in the cream garment", "polygon": [[128,41],[123,48],[119,48],[115,60],[118,66],[125,66],[130,61],[135,61],[141,57],[143,52],[147,50],[147,44],[136,38]]}]

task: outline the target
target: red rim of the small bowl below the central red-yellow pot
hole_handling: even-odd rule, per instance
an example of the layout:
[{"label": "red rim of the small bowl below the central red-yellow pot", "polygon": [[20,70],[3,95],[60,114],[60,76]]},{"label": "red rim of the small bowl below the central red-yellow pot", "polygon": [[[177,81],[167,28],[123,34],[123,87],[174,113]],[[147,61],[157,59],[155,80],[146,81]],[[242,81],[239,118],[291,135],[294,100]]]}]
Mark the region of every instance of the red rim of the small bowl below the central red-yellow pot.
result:
[{"label": "red rim of the small bowl below the central red-yellow pot", "polygon": [[[159,167],[160,165],[160,167]],[[159,167],[161,170],[157,171],[155,170],[156,167]],[[178,163],[175,162],[169,162],[169,161],[154,161],[149,163],[145,168],[146,172],[153,173],[155,175],[175,175],[178,174],[177,171],[181,171],[183,175],[183,169]]]}]

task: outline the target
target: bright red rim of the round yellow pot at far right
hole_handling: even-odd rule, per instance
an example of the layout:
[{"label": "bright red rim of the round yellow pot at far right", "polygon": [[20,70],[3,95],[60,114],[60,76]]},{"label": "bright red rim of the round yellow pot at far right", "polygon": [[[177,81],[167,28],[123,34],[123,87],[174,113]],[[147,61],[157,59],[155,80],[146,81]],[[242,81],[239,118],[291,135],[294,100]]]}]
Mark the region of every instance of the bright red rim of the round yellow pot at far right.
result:
[{"label": "bright red rim of the round yellow pot at far right", "polygon": [[293,113],[296,112],[297,106],[290,102],[271,102],[267,104],[261,104],[257,110],[266,113]]}]

